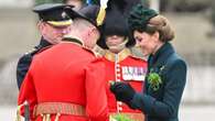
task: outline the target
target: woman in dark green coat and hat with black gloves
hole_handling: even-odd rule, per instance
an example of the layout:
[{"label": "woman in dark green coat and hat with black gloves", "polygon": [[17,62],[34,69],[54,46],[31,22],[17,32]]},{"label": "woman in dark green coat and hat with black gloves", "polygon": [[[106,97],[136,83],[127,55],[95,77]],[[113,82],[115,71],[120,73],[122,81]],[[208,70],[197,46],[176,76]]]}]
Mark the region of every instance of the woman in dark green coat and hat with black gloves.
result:
[{"label": "woman in dark green coat and hat with black gloves", "polygon": [[186,81],[186,64],[170,41],[174,32],[166,18],[138,4],[128,22],[133,37],[148,58],[144,92],[136,92],[129,84],[111,84],[117,100],[141,110],[147,121],[179,121],[179,106]]}]

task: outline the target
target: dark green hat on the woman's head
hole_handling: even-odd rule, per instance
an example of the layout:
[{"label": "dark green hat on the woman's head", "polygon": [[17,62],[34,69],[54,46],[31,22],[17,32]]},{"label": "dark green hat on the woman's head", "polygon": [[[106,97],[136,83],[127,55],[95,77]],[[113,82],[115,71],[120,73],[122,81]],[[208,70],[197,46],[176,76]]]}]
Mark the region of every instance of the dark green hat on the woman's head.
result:
[{"label": "dark green hat on the woman's head", "polygon": [[142,4],[137,4],[132,8],[129,18],[128,23],[129,28],[133,32],[135,30],[138,31],[146,31],[147,24],[149,20],[153,16],[158,15],[158,12],[153,9],[149,9]]}]

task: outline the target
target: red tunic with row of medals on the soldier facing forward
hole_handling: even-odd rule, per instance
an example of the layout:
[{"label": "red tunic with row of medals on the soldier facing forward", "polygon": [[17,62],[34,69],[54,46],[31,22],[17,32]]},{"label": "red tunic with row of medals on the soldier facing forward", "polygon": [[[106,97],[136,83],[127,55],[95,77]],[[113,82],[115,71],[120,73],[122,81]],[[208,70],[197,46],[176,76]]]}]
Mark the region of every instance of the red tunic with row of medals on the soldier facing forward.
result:
[{"label": "red tunic with row of medals on the soldier facing forward", "polygon": [[126,103],[117,101],[114,94],[109,90],[109,81],[128,81],[137,91],[142,91],[143,80],[147,73],[147,62],[133,57],[128,48],[119,54],[106,52],[103,61],[106,65],[108,108],[110,113],[126,112],[137,121],[143,121],[141,111],[130,109]]}]

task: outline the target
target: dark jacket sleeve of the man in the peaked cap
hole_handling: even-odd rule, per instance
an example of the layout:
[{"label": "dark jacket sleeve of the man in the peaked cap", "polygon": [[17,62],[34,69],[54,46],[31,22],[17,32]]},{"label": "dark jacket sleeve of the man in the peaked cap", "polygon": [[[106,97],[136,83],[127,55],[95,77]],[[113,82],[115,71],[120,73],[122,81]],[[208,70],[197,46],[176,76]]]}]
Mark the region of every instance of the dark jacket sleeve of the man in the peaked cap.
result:
[{"label": "dark jacket sleeve of the man in the peaked cap", "polygon": [[17,82],[18,82],[19,89],[20,89],[20,87],[22,85],[22,81],[24,80],[26,72],[29,70],[31,62],[32,62],[31,54],[25,54],[18,62],[18,66],[17,66]]}]

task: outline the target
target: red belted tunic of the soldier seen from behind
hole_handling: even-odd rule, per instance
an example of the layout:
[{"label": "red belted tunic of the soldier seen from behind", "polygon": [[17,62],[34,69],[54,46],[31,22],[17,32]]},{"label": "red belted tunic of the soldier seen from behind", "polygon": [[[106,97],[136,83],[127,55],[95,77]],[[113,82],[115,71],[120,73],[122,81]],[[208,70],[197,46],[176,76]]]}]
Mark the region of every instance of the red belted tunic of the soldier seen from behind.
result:
[{"label": "red belted tunic of the soldier seen from behind", "polygon": [[[76,43],[63,42],[33,58],[18,103],[26,100],[31,119],[36,121],[47,117],[51,121],[57,117],[60,121],[107,121],[104,77],[101,59]],[[51,116],[41,112],[50,112]]]}]

